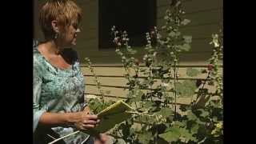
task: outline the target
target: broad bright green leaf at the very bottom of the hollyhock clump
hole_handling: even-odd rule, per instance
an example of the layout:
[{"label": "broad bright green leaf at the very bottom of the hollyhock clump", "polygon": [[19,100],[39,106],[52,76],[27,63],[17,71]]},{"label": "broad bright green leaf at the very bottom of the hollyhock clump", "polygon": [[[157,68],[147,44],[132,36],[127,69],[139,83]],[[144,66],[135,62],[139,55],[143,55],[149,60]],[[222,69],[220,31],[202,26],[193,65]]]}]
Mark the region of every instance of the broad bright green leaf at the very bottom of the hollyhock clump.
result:
[{"label": "broad bright green leaf at the very bottom of the hollyhock clump", "polygon": [[178,128],[171,128],[169,131],[163,134],[159,134],[160,138],[163,138],[167,142],[176,142],[180,137],[180,132]]}]

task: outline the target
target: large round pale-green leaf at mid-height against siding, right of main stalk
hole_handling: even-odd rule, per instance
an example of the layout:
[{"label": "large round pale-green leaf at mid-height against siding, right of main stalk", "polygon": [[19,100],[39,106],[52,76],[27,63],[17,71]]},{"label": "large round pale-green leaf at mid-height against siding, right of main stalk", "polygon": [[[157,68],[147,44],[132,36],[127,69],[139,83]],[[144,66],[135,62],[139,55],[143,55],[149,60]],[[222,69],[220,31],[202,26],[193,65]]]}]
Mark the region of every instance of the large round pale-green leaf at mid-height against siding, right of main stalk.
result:
[{"label": "large round pale-green leaf at mid-height against siding, right of main stalk", "polygon": [[193,95],[196,89],[196,82],[192,80],[185,80],[182,83],[176,83],[176,91],[181,97],[188,97]]}]

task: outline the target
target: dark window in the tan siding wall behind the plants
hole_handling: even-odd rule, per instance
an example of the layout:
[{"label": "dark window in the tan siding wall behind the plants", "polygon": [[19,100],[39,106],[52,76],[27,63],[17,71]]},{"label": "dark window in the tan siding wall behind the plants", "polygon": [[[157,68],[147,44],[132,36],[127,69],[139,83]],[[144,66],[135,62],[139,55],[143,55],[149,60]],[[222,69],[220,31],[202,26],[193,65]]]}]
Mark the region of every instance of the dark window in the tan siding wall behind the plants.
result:
[{"label": "dark window in the tan siding wall behind the plants", "polygon": [[127,31],[130,46],[145,46],[146,32],[156,26],[156,0],[101,0],[98,18],[99,49],[114,48],[112,26]]}]

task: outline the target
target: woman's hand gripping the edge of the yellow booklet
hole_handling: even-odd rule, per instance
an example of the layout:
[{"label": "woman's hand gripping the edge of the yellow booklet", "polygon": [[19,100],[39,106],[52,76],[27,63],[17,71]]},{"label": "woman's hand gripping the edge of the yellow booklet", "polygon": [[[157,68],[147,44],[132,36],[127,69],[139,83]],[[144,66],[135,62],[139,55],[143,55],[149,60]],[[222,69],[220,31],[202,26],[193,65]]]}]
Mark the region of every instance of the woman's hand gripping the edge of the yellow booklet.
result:
[{"label": "woman's hand gripping the edge of the yellow booklet", "polygon": [[85,111],[75,113],[74,119],[74,126],[78,128],[78,130],[93,129],[99,122],[97,115],[88,114]]}]

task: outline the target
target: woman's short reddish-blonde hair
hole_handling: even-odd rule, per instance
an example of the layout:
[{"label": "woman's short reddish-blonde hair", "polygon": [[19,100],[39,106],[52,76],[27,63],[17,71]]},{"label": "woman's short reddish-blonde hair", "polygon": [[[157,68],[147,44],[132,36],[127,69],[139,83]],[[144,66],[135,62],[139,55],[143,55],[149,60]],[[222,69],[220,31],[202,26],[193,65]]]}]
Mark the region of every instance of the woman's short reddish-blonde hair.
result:
[{"label": "woman's short reddish-blonde hair", "polygon": [[54,38],[54,30],[51,26],[53,20],[57,20],[61,26],[70,26],[71,22],[80,22],[82,10],[72,0],[47,0],[39,12],[39,23],[45,38]]}]

